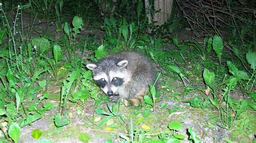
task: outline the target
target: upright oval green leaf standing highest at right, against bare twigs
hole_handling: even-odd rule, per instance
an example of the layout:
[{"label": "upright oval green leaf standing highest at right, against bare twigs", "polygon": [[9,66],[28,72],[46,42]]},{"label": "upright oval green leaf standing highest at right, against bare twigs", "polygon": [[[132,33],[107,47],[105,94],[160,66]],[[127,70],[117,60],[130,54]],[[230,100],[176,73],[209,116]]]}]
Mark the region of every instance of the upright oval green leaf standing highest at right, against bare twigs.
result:
[{"label": "upright oval green leaf standing highest at right, against bare twigs", "polygon": [[222,41],[222,39],[219,35],[215,35],[213,37],[212,47],[213,47],[215,53],[217,54],[217,57],[218,57],[218,60],[219,60],[219,63],[220,63],[221,54],[222,54],[222,51],[223,51],[223,41]]}]

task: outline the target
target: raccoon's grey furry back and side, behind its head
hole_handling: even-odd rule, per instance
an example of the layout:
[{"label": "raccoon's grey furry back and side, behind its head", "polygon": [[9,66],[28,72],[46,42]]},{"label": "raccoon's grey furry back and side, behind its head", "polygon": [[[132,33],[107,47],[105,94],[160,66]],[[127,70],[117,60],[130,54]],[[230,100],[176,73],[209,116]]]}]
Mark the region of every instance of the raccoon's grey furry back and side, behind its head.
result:
[{"label": "raccoon's grey furry back and side, behind its head", "polygon": [[113,55],[113,58],[127,60],[127,76],[130,81],[123,87],[124,98],[133,98],[145,94],[149,90],[149,83],[156,80],[156,68],[149,59],[137,52],[121,52]]}]

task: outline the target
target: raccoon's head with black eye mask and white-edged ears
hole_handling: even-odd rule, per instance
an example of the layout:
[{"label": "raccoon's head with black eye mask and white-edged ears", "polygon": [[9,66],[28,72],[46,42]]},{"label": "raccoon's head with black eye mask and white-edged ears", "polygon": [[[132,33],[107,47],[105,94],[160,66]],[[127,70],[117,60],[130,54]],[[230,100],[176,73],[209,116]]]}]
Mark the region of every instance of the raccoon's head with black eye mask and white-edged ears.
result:
[{"label": "raccoon's head with black eye mask and white-edged ears", "polygon": [[128,82],[127,60],[116,62],[104,59],[98,63],[90,63],[86,67],[92,70],[93,80],[108,96],[118,95],[118,88]]}]

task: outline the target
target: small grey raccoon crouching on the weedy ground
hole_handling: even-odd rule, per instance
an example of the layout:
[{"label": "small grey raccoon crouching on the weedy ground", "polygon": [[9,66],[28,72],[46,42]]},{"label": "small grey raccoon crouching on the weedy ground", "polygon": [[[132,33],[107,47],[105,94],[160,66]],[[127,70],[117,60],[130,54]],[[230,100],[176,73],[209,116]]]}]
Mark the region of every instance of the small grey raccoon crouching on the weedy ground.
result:
[{"label": "small grey raccoon crouching on the weedy ground", "polygon": [[124,104],[138,106],[149,92],[149,83],[156,80],[156,68],[149,59],[137,52],[109,55],[86,67],[93,80],[109,97],[119,96]]}]

